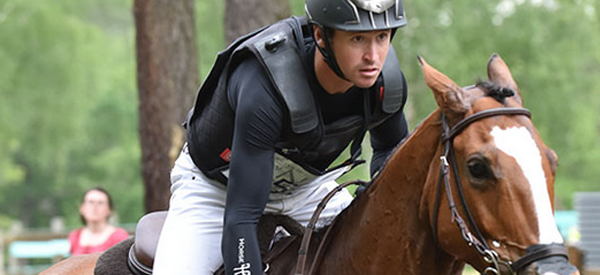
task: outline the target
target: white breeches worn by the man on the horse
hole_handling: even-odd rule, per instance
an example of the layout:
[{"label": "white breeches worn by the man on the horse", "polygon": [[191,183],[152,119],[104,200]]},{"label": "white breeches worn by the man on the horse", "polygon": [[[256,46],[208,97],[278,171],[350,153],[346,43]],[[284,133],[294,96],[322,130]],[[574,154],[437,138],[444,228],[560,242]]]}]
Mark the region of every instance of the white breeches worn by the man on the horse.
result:
[{"label": "white breeches worn by the man on the horse", "polygon": [[[269,199],[264,213],[287,215],[306,225],[341,172],[326,174],[283,198]],[[221,237],[226,187],[207,178],[187,148],[171,171],[171,200],[154,262],[155,275],[212,275],[223,264]],[[344,189],[323,210],[317,227],[329,224],[352,201]]]}]

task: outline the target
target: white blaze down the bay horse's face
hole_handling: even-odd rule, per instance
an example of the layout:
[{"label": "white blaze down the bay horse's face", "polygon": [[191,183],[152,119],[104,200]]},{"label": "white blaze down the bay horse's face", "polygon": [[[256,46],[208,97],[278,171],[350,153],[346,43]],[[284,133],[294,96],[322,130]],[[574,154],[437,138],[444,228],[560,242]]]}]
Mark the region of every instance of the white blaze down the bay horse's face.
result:
[{"label": "white blaze down the bay horse's face", "polygon": [[496,126],[490,134],[496,147],[517,161],[529,181],[538,218],[540,244],[563,243],[554,220],[541,153],[531,133],[525,127],[501,129]]}]

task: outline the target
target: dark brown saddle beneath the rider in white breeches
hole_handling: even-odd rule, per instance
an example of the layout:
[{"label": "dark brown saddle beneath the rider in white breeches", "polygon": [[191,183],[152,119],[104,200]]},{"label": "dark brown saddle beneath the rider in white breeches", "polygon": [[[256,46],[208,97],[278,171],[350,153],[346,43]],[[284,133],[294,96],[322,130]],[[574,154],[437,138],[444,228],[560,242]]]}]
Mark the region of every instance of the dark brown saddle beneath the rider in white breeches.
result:
[{"label": "dark brown saddle beneath the rider in white breeches", "polygon": [[[150,275],[154,265],[154,255],[158,245],[158,238],[167,217],[167,211],[146,214],[137,224],[133,245],[129,249],[127,265],[134,275]],[[292,236],[301,236],[304,228],[288,216],[265,214],[258,223],[257,237],[260,253],[266,258],[273,242],[273,236],[278,227],[282,227]],[[293,238],[286,238],[291,243]],[[285,245],[284,245],[285,246]],[[281,246],[280,246],[281,247]],[[273,253],[271,253],[273,254]],[[223,267],[216,273],[225,274]]]}]

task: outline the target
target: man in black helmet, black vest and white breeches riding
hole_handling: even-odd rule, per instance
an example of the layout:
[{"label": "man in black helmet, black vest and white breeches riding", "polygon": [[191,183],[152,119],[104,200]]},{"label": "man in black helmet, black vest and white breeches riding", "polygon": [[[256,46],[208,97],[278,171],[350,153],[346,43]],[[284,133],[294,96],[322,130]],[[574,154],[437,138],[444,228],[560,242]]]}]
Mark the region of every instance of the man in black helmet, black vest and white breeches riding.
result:
[{"label": "man in black helmet, black vest and white breeches riding", "polygon": [[[262,274],[263,213],[306,225],[335,179],[360,161],[371,174],[408,134],[406,80],[391,47],[400,0],[307,0],[292,17],[221,52],[185,123],[154,274]],[[349,145],[351,157],[330,167]],[[325,226],[352,200],[343,191]]]}]

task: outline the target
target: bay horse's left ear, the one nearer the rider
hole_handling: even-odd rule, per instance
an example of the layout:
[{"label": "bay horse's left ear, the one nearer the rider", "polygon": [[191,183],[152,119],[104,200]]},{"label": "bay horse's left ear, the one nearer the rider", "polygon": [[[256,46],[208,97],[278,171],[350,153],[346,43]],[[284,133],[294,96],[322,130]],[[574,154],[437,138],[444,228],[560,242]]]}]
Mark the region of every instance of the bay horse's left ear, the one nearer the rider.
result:
[{"label": "bay horse's left ear, the one nearer the rider", "polygon": [[438,106],[448,116],[456,114],[462,117],[470,108],[463,89],[427,64],[421,56],[418,56],[418,59],[425,75],[425,83],[433,91]]}]

